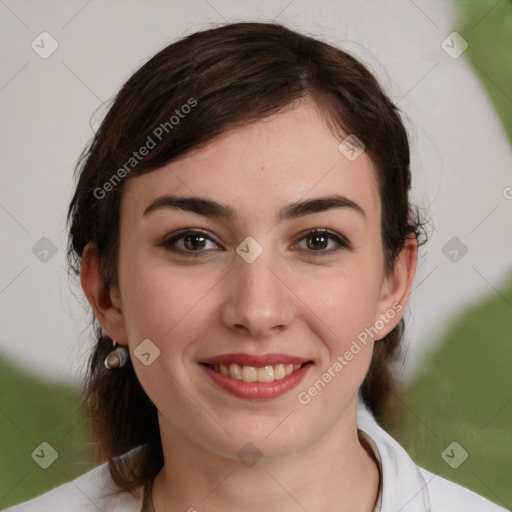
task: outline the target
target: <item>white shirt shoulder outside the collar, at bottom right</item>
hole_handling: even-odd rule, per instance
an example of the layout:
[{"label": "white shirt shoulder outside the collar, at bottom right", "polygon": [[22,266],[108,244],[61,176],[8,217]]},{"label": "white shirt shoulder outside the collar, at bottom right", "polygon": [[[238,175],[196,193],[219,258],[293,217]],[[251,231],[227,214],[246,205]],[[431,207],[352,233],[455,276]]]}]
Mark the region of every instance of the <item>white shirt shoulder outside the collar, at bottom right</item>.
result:
[{"label": "white shirt shoulder outside the collar, at bottom right", "polygon": [[464,512],[505,512],[507,510],[470,491],[466,487],[450,482],[446,478],[435,475],[426,469],[419,468],[419,470],[425,481],[428,482],[427,487],[432,512],[451,512],[452,510],[464,510]]}]

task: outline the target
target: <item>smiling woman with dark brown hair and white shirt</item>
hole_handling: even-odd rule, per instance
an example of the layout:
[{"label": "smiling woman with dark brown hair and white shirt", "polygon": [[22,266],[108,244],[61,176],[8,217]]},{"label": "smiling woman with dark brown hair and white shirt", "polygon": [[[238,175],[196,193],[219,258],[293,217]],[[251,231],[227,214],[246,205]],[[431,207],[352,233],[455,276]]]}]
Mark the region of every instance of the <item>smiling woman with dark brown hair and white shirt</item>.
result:
[{"label": "smiling woman with dark brown hair and white shirt", "polygon": [[280,25],[192,34],[123,86],[69,257],[108,463],[12,511],[504,510],[376,423],[422,225],[396,107]]}]

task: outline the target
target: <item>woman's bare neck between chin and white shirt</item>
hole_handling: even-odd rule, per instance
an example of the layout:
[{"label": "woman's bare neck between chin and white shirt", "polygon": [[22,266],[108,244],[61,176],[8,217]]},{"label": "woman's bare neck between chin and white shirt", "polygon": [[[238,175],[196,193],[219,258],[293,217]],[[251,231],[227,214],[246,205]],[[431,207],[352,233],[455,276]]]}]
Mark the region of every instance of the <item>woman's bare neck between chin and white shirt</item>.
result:
[{"label": "woman's bare neck between chin and white shirt", "polygon": [[165,463],[153,485],[155,511],[371,512],[379,469],[355,422],[354,407],[350,418],[304,449],[247,467],[205,449],[160,418]]}]

